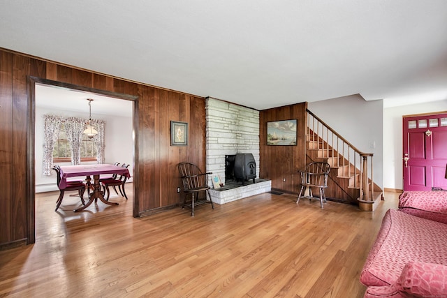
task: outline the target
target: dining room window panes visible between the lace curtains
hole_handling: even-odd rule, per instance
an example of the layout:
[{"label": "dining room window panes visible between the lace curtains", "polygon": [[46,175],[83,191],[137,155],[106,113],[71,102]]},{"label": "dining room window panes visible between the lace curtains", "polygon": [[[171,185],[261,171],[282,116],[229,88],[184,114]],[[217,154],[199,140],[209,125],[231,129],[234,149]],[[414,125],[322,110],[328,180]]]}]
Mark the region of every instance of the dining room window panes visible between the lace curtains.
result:
[{"label": "dining room window panes visible between the lace curtains", "polygon": [[[97,152],[96,147],[92,139],[89,139],[87,135],[82,137],[81,144],[81,161],[96,161]],[[71,146],[66,138],[65,125],[61,123],[59,128],[59,137],[54,144],[53,150],[53,161],[54,162],[70,162],[71,161]]]}]

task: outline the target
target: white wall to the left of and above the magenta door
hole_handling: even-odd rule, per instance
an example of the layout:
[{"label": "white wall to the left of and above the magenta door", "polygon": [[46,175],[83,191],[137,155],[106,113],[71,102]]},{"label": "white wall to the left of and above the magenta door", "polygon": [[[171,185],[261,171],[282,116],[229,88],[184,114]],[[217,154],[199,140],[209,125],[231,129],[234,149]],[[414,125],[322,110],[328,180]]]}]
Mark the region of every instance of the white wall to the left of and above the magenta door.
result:
[{"label": "white wall to the left of and above the magenta door", "polygon": [[384,188],[403,189],[402,116],[446,111],[447,100],[387,107],[383,110],[383,143],[385,144],[383,155]]}]

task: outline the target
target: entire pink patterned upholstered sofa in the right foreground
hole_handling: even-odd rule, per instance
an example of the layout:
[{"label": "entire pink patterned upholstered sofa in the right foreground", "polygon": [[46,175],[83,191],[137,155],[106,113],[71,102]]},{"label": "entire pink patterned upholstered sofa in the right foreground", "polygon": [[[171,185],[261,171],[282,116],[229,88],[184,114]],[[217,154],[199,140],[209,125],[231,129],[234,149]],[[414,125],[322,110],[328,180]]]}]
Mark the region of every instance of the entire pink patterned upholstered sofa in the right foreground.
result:
[{"label": "entire pink patterned upholstered sofa in the right foreground", "polygon": [[372,297],[447,297],[447,191],[405,192],[360,274]]}]

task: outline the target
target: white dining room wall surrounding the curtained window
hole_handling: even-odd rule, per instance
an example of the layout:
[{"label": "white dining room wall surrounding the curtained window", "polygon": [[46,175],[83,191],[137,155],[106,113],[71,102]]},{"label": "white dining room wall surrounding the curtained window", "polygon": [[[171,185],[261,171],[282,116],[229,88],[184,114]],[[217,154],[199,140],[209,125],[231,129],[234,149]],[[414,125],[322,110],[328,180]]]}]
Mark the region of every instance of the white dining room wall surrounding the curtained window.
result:
[{"label": "white dining room wall surrounding the curtained window", "polygon": [[[81,112],[68,110],[55,110],[36,106],[36,146],[35,146],[35,168],[36,168],[36,193],[45,191],[57,191],[56,177],[54,171],[51,176],[42,174],[43,161],[43,115],[57,114],[62,117],[80,117],[88,119],[89,115]],[[123,114],[132,114],[132,103],[129,101],[129,111]],[[105,121],[105,163],[127,163],[130,164],[129,172],[133,176],[133,119],[132,117],[118,117],[110,115],[98,115],[95,119]],[[92,164],[89,162],[85,164]],[[58,163],[69,165],[70,163]],[[84,163],[83,163],[84,164]],[[131,180],[130,180],[131,181]]]}]

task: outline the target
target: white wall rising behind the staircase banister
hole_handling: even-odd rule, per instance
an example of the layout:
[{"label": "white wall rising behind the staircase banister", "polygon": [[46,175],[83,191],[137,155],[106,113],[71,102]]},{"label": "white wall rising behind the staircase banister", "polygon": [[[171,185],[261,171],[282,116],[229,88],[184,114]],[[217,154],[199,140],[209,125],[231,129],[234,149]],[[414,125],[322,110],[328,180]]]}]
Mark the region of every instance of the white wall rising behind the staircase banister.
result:
[{"label": "white wall rising behind the staircase banister", "polygon": [[352,95],[308,103],[307,108],[360,151],[374,154],[374,183],[382,188],[383,100]]}]

